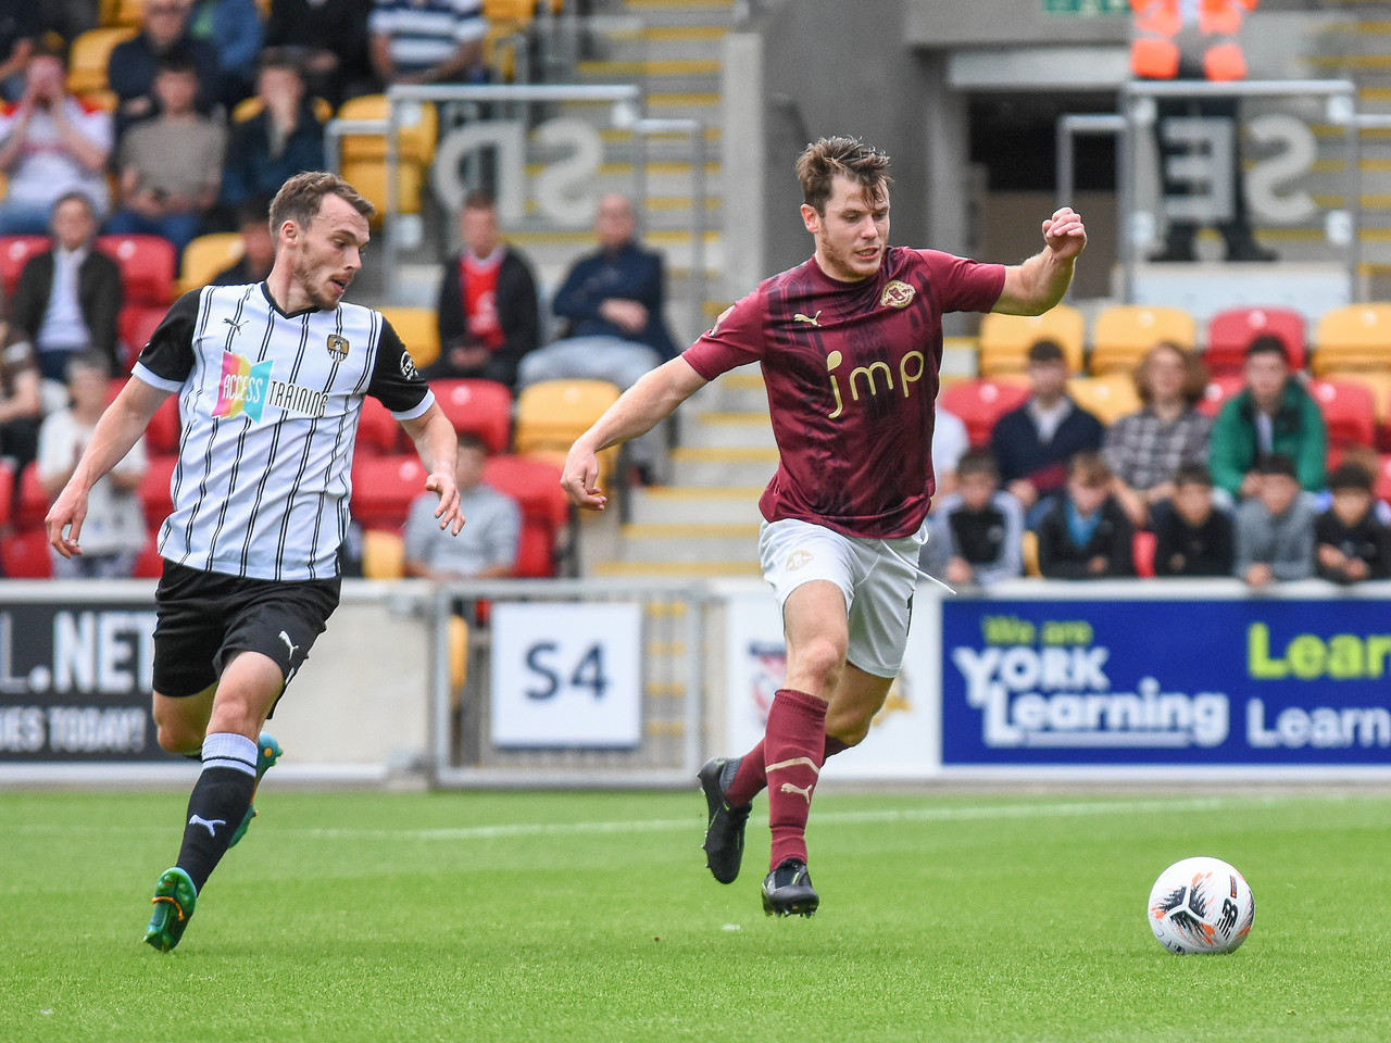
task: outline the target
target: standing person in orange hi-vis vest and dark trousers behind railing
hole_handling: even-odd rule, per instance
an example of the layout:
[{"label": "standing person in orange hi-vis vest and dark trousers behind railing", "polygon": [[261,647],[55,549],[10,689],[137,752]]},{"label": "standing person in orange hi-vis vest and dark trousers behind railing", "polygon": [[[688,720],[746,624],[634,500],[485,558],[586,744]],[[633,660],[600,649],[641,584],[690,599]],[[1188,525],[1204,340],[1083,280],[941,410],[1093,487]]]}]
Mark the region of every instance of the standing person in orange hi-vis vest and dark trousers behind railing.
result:
[{"label": "standing person in orange hi-vis vest and dark trousers behind railing", "polygon": [[[1238,33],[1241,21],[1260,0],[1131,0],[1134,33],[1131,72],[1138,79],[1245,79],[1246,57]],[[1182,142],[1166,134],[1171,118],[1230,120],[1232,124],[1232,209],[1217,223],[1230,261],[1269,261],[1276,254],[1260,246],[1246,216],[1245,179],[1238,147],[1241,125],[1238,100],[1228,97],[1159,99],[1155,121],[1160,160],[1160,185],[1166,199],[1185,196],[1189,185],[1170,177],[1170,160],[1188,152]],[[1198,223],[1171,218],[1164,248],[1150,260],[1198,260],[1193,238]]]}]

